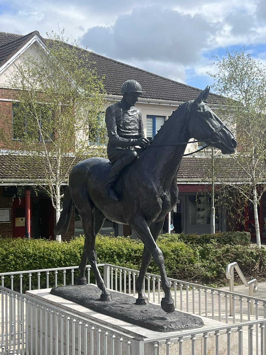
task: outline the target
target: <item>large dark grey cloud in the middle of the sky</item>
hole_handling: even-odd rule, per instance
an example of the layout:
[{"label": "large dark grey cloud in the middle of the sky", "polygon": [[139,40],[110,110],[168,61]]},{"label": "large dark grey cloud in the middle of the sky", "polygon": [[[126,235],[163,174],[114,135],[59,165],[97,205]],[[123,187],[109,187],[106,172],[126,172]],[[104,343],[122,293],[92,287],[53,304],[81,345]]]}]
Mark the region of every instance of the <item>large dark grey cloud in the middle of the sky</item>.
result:
[{"label": "large dark grey cloud in the middle of the sky", "polygon": [[90,28],[80,42],[112,58],[188,64],[210,48],[219,27],[220,23],[209,23],[203,15],[192,17],[149,6],[121,15],[112,27]]}]

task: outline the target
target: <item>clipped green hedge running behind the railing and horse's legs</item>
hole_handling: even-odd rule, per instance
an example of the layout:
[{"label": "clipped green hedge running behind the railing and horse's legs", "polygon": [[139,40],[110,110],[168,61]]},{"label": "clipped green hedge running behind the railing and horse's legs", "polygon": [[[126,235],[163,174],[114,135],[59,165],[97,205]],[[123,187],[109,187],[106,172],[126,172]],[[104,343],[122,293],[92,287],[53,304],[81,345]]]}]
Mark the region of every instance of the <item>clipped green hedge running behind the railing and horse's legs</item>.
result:
[{"label": "clipped green hedge running behind the railing and horse's legs", "polygon": [[[242,244],[234,245],[233,236]],[[164,234],[159,237],[158,245],[164,253],[169,277],[199,284],[223,285],[227,282],[226,265],[233,261],[239,264],[247,278],[263,278],[266,274],[266,250],[251,248],[247,236],[246,233],[240,232],[199,236]],[[0,239],[0,272],[78,265],[83,245],[82,236],[60,244],[43,239]],[[139,270],[142,251],[143,244],[138,240],[100,235],[96,238],[98,263],[110,263]],[[154,261],[151,262],[148,272],[159,273]],[[78,271],[75,272],[75,278],[77,275]],[[53,277],[52,273],[50,277]],[[59,272],[59,284],[62,284],[62,277],[62,272]],[[46,277],[43,275],[42,286],[45,285],[45,280]],[[8,282],[9,278],[6,278],[6,286]],[[18,287],[19,281],[14,279],[14,282]],[[67,283],[70,283],[69,274]],[[33,278],[33,284],[36,287],[36,277]]]}]

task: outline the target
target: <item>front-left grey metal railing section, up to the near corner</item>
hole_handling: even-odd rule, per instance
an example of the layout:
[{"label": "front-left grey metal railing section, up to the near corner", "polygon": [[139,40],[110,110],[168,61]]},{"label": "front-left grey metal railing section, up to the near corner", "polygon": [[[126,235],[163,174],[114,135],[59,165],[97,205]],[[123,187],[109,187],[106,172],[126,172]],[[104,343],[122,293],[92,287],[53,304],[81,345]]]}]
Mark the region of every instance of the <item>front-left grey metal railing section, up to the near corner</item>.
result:
[{"label": "front-left grey metal railing section, up to the near corner", "polygon": [[0,294],[2,354],[135,353],[129,334],[1,286]]}]

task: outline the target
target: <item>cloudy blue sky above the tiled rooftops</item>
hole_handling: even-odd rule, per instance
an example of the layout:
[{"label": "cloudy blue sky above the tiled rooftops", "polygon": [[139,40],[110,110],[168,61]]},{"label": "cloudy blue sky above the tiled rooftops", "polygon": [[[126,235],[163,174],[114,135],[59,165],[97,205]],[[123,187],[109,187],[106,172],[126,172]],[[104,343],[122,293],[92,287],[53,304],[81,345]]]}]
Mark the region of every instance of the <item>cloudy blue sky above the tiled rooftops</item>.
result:
[{"label": "cloudy blue sky above the tiled rooftops", "polygon": [[204,89],[217,56],[266,64],[265,0],[0,0],[0,31],[65,29],[95,53]]}]

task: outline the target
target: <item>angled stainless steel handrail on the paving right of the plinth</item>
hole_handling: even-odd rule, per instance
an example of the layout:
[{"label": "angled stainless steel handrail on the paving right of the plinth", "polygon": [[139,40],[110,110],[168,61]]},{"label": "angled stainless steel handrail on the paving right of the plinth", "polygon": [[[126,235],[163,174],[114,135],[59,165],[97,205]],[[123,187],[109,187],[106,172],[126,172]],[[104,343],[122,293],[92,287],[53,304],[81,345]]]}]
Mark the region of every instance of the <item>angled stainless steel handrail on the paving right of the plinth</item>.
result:
[{"label": "angled stainless steel handrail on the paving right of the plinth", "polygon": [[[249,288],[249,296],[253,297],[253,292],[257,292],[258,289],[258,282],[257,279],[252,279],[250,281],[247,281],[245,278],[243,272],[241,271],[238,263],[234,261],[233,263],[230,263],[226,266],[226,278],[229,280],[229,291],[234,292],[234,269],[238,273],[241,281],[243,284]],[[233,315],[233,300],[232,298],[230,299],[230,316]],[[251,300],[251,305],[250,305],[250,314],[253,315],[253,300]]]}]

